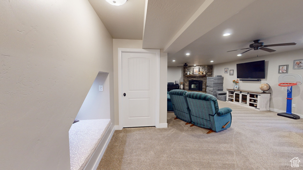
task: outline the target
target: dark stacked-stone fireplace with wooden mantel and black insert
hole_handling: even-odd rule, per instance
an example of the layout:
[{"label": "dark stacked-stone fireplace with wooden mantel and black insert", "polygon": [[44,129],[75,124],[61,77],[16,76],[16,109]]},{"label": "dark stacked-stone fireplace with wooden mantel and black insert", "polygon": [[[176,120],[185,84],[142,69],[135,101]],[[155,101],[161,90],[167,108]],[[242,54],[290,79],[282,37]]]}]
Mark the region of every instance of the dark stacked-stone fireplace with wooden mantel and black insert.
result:
[{"label": "dark stacked-stone fireplace with wooden mantel and black insert", "polygon": [[[192,72],[193,68],[199,67],[199,71],[206,71],[206,74],[199,75],[199,74],[192,74],[192,75],[187,75],[187,72]],[[189,90],[189,80],[199,80],[201,81],[201,86],[202,90],[196,90],[195,91],[206,91],[206,82],[207,78],[206,77],[212,77],[212,65],[200,65],[200,66],[194,66],[194,67],[183,67],[183,85],[184,85],[184,90]]]}]

